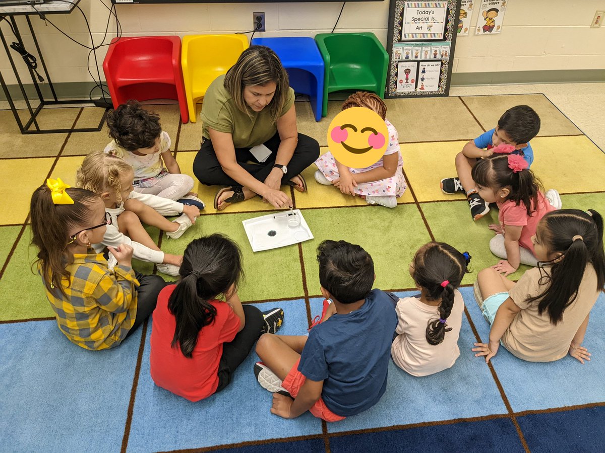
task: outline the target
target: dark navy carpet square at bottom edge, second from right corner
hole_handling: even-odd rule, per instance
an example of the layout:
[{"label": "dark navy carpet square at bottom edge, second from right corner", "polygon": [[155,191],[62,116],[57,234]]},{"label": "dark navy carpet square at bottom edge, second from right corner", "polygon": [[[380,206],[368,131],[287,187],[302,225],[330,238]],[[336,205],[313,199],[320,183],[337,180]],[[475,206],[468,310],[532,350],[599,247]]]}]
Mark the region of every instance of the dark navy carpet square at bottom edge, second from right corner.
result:
[{"label": "dark navy carpet square at bottom edge, second from right corner", "polygon": [[332,453],[352,451],[515,453],[525,450],[515,426],[507,417],[480,422],[462,422],[330,437],[330,451]]}]

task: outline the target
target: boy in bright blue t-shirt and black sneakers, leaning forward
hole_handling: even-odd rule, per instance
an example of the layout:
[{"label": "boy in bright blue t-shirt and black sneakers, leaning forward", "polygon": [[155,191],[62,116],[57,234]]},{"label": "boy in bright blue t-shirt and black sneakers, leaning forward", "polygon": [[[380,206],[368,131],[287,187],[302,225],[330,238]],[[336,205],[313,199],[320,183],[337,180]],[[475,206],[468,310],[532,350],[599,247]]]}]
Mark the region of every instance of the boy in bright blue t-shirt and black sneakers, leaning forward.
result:
[{"label": "boy in bright blue t-shirt and black sneakers, leaning forward", "polygon": [[540,117],[529,106],[518,105],[508,109],[495,129],[488,130],[475,140],[469,141],[456,155],[457,178],[441,180],[443,193],[466,193],[473,220],[489,212],[489,204],[477,193],[471,170],[479,159],[488,158],[494,152],[512,152],[522,155],[529,165],[534,161],[534,150],[529,140],[540,131]]}]

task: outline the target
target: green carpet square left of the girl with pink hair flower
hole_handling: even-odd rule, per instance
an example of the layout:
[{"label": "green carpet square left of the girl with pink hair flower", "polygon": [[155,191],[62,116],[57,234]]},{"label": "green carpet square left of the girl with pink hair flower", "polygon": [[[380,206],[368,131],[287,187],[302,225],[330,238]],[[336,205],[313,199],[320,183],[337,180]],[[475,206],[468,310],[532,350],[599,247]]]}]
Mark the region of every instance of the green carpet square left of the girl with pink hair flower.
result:
[{"label": "green carpet square left of the girl with pink hair flower", "polygon": [[[489,240],[494,237],[494,232],[488,228],[490,223],[498,223],[498,211],[491,210],[473,222],[466,201],[422,203],[420,207],[435,240],[446,242],[460,252],[468,251],[473,257],[471,273],[462,280],[463,284],[474,283],[477,272],[499,262],[500,259],[489,251]],[[528,266],[521,265],[509,278],[518,280],[527,269]]]}]

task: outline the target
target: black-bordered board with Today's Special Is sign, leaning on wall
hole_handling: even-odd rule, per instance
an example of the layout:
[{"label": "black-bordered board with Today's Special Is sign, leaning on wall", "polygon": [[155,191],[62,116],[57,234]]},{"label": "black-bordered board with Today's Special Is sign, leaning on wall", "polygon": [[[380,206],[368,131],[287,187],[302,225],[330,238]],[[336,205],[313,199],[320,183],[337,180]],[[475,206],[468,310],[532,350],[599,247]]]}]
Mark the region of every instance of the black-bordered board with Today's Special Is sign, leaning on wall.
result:
[{"label": "black-bordered board with Today's Special Is sign, leaning on wall", "polygon": [[459,0],[391,0],[385,97],[449,94],[459,14]]}]

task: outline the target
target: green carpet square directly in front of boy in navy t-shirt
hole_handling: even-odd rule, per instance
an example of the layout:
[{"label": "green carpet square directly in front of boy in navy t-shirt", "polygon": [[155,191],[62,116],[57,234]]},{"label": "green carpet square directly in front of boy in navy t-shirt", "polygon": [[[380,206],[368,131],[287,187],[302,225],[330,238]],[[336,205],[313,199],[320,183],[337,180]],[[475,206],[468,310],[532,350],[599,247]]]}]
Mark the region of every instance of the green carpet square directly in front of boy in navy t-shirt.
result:
[{"label": "green carpet square directly in front of boy in navy t-shirt", "polygon": [[400,205],[395,209],[381,206],[318,209],[302,214],[315,237],[302,243],[310,295],[320,294],[316,249],[325,239],[361,245],[374,260],[374,288],[414,287],[408,263],[420,245],[431,240],[416,205]]}]

